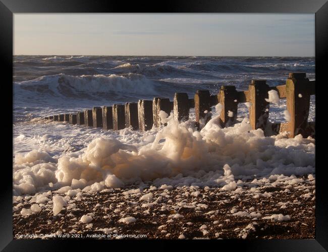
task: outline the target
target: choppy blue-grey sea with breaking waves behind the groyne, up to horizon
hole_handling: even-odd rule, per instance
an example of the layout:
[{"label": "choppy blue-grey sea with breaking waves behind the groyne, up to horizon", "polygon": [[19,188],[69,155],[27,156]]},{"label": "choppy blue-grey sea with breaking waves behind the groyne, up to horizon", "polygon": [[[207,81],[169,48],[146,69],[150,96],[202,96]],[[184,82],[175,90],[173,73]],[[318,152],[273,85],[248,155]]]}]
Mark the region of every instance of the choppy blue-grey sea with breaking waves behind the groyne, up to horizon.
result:
[{"label": "choppy blue-grey sea with breaking waves behind the groyne, up to horizon", "polygon": [[314,58],[15,56],[15,121],[197,89],[215,94],[221,85],[246,90],[251,79],[277,86],[289,72],[315,79]]}]

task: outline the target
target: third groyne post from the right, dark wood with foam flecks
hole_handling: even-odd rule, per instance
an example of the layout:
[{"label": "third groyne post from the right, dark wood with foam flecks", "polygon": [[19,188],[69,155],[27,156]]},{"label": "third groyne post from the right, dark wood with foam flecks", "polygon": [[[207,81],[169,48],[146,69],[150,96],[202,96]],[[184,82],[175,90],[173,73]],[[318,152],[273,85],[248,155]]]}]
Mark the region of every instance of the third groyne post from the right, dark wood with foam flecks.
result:
[{"label": "third groyne post from the right, dark wood with foam flecks", "polygon": [[221,125],[222,127],[232,126],[236,122],[237,118],[238,98],[236,87],[221,86],[219,95],[220,103],[222,104],[222,110],[220,115]]}]

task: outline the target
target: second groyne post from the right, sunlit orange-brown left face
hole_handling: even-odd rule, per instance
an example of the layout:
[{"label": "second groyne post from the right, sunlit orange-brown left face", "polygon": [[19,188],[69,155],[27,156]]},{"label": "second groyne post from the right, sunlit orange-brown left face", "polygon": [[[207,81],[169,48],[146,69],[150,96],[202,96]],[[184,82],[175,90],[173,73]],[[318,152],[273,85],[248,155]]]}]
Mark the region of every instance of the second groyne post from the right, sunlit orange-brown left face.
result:
[{"label": "second groyne post from the right, sunlit orange-brown left face", "polygon": [[252,80],[248,86],[251,106],[249,107],[249,123],[253,130],[262,129],[264,131],[269,117],[268,98],[269,87],[265,80]]}]

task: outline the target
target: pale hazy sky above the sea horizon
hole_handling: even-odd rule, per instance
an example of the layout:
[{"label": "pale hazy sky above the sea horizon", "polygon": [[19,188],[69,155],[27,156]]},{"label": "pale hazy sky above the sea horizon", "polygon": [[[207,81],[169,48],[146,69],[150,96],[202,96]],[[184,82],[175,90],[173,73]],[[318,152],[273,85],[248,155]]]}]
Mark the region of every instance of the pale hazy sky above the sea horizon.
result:
[{"label": "pale hazy sky above the sea horizon", "polygon": [[314,14],[14,14],[14,55],[314,57]]}]

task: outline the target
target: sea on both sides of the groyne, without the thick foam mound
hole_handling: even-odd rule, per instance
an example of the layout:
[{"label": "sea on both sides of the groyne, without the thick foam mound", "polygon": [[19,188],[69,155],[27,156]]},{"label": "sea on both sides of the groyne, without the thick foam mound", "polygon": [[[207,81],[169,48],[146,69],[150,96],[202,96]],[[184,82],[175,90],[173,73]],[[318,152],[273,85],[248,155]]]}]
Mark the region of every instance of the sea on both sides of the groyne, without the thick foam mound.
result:
[{"label": "sea on both sides of the groyne, without the thick foam mound", "polygon": [[[30,183],[35,188],[63,179],[60,175],[56,175],[57,180],[54,175],[49,175],[51,179],[44,175],[47,179],[43,182],[42,178],[35,179],[39,170],[35,172],[33,165],[51,162],[54,167],[50,170],[57,174],[58,160],[67,155],[78,158],[97,138],[114,139],[140,150],[153,144],[162,131],[162,128],[149,132],[88,129],[44,120],[44,116],[153,97],[168,97],[172,101],[176,92],[185,92],[189,98],[197,90],[209,90],[213,95],[223,85],[234,85],[242,91],[248,89],[252,79],[265,79],[274,87],[284,85],[290,72],[305,72],[307,78],[315,79],[313,57],[15,55],[13,59],[13,157],[14,164],[18,163],[13,173],[14,184]],[[286,99],[281,99],[280,104],[270,104],[269,120],[286,121],[285,110]],[[215,116],[215,109],[212,113]],[[245,117],[248,117],[247,106],[239,104],[238,118],[241,121]],[[308,120],[315,120],[315,96],[311,96]],[[164,139],[161,143],[165,142],[165,136],[161,136]],[[313,153],[314,149],[309,154],[312,159]],[[17,155],[19,162],[15,161]],[[49,157],[44,158],[45,155]],[[312,159],[309,162],[314,167]],[[21,169],[26,169],[26,173],[19,172]]]}]

